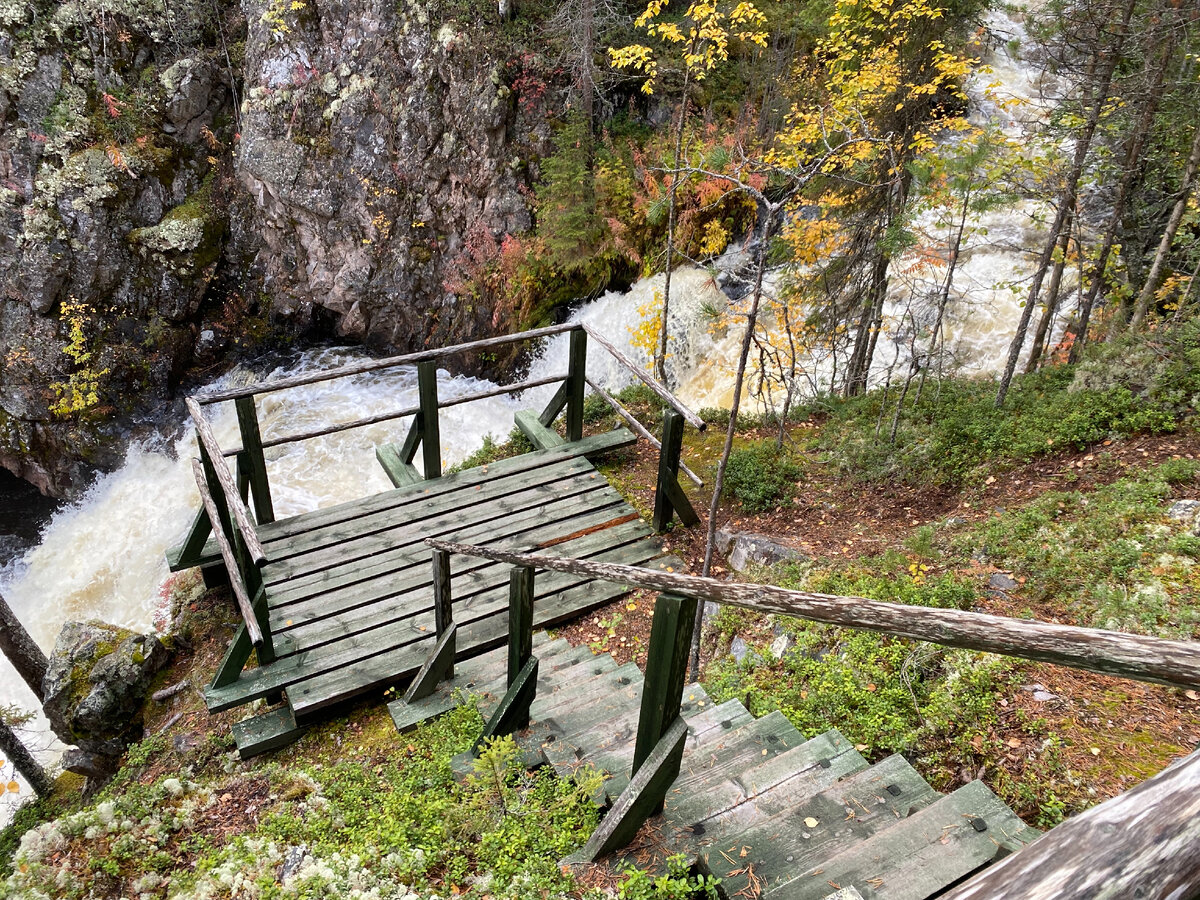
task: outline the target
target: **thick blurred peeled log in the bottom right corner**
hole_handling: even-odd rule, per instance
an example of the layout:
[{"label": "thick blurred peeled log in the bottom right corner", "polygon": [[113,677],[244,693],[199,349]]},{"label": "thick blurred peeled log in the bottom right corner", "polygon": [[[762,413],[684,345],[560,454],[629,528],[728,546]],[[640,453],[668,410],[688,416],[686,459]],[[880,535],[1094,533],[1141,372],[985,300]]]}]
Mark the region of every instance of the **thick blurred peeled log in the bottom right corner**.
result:
[{"label": "thick blurred peeled log in the bottom right corner", "polygon": [[942,900],[1200,896],[1200,754],[1094,806]]}]

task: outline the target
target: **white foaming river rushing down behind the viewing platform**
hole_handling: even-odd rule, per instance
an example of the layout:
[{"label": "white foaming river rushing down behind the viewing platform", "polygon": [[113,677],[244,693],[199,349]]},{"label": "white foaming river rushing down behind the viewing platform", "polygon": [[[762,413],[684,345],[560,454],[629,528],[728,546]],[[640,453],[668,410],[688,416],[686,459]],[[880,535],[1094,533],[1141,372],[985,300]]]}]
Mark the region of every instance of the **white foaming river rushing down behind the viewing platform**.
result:
[{"label": "white foaming river rushing down behind the viewing platform", "polygon": [[[1001,13],[990,23],[1002,38],[1021,36],[1020,26]],[[990,62],[994,73],[972,78],[970,94],[976,116],[1003,120],[1006,130],[1036,127],[1040,113],[1036,106],[1043,85],[1036,84],[1032,70],[1009,55],[1003,40]],[[992,85],[1001,80],[1019,107]],[[962,253],[955,280],[955,295],[947,322],[947,346],[962,368],[971,372],[998,371],[1019,316],[1020,292],[1003,286],[1027,277],[1031,251],[1039,244],[1039,209],[1033,204],[997,210],[973,222],[974,236]],[[744,251],[734,250],[718,262],[714,271],[737,269],[745,262]],[[902,265],[896,266],[899,271]],[[638,310],[661,289],[661,276],[638,282],[628,293],[608,293],[576,311],[574,319],[587,322],[605,334],[635,360],[644,354],[631,343],[638,324]],[[770,283],[768,283],[768,288]],[[899,275],[892,284],[887,316],[889,329],[880,340],[872,372],[875,380],[888,370],[904,365],[904,310],[913,286]],[[672,281],[670,376],[680,398],[695,409],[727,407],[732,372],[740,334],[712,334],[706,310],[726,302],[714,274],[685,266]],[[588,370],[594,380],[620,388],[630,376],[601,348],[593,346]],[[314,372],[362,358],[356,349],[316,349],[266,374],[266,378]],[[829,378],[827,364],[811,361],[810,374],[818,386]],[[566,370],[566,337],[551,338],[540,348],[529,377],[562,374]],[[218,384],[232,385],[251,378],[235,371]],[[443,398],[486,390],[491,382],[438,373]],[[443,410],[442,449],[445,463],[462,460],[491,434],[505,437],[517,409],[539,407],[552,388],[523,397],[497,397]],[[373,372],[348,379],[307,385],[265,395],[259,400],[264,437],[305,431],[318,425],[349,421],[416,403],[414,368]],[[229,404],[224,404],[229,406]],[[223,444],[236,442],[232,409],[222,409],[215,420]],[[356,428],[268,451],[268,469],[275,509],[288,516],[389,487],[374,460],[374,448],[396,440],[407,424],[389,422]],[[34,638],[47,650],[62,623],[70,619],[100,618],[134,629],[151,628],[161,612],[161,590],[168,572],[163,558],[169,546],[186,530],[198,496],[192,481],[191,458],[196,437],[191,426],[163,422],[161,437],[138,440],[128,449],[125,463],[100,476],[76,502],[52,510],[10,479],[0,481],[0,593],[25,623]],[[227,443],[228,442],[228,443]],[[0,656],[0,702],[28,709],[36,707],[32,694]],[[43,758],[58,752],[43,720],[26,730],[29,743]],[[7,773],[7,770],[6,770]],[[17,797],[24,797],[25,788]],[[8,797],[8,803],[14,797]],[[5,817],[0,809],[0,820]]]}]

